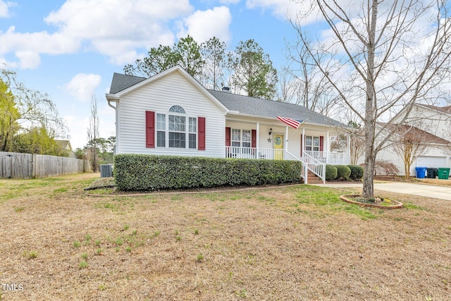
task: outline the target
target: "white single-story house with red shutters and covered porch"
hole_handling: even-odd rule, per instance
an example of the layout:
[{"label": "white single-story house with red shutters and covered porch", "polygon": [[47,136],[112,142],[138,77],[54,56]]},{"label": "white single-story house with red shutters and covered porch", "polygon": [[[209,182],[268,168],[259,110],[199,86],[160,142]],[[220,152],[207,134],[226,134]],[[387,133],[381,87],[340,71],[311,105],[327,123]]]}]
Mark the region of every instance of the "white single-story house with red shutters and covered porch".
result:
[{"label": "white single-story house with red shutters and covered porch", "polygon": [[114,73],[106,100],[116,154],[295,159],[321,179],[325,164],[349,164],[349,149],[330,152],[346,125],[304,106],[207,90],[180,66],[151,78]]}]

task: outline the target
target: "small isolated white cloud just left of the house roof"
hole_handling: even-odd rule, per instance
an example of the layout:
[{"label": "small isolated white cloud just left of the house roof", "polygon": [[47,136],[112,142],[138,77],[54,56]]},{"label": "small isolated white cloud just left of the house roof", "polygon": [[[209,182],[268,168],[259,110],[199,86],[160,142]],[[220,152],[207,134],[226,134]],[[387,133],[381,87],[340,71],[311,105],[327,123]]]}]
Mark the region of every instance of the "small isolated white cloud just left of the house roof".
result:
[{"label": "small isolated white cloud just left of the house roof", "polygon": [[101,76],[80,73],[75,75],[64,87],[80,102],[89,102],[94,89],[100,85]]}]

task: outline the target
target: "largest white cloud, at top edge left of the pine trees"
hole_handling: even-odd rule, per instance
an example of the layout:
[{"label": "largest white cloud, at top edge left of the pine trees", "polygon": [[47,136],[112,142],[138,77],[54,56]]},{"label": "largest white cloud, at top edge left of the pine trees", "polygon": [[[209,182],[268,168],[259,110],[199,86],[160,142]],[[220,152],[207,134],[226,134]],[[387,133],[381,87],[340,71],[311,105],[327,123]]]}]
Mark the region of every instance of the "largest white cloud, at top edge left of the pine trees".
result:
[{"label": "largest white cloud, at top edge left of the pine trees", "polygon": [[45,21],[123,64],[136,59],[136,49],[171,44],[174,36],[168,23],[192,9],[188,0],[69,0]]}]

